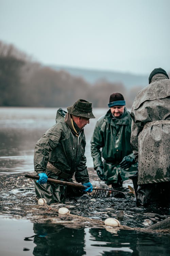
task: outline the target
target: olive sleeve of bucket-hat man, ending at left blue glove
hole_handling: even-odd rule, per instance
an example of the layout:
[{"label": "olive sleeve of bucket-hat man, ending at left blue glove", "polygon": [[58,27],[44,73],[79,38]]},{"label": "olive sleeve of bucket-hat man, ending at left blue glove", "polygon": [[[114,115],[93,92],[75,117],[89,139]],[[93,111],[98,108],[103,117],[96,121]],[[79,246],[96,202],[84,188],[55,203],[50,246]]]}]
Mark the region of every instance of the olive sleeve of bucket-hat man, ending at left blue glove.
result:
[{"label": "olive sleeve of bucket-hat man, ending at left blue glove", "polygon": [[50,151],[57,146],[61,136],[62,130],[56,129],[55,125],[37,141],[34,150],[34,170],[37,173],[46,172]]}]

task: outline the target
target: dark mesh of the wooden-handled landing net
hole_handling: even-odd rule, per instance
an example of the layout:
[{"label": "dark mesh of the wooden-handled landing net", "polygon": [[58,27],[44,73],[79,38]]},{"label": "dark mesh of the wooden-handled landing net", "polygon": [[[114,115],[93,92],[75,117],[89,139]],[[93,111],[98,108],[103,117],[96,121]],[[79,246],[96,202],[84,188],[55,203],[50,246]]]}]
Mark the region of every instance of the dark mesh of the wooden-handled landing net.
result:
[{"label": "dark mesh of the wooden-handled landing net", "polygon": [[121,191],[115,189],[105,189],[105,188],[93,188],[92,192],[87,192],[88,196],[93,198],[103,198],[103,197],[118,197],[124,198],[125,194]]}]

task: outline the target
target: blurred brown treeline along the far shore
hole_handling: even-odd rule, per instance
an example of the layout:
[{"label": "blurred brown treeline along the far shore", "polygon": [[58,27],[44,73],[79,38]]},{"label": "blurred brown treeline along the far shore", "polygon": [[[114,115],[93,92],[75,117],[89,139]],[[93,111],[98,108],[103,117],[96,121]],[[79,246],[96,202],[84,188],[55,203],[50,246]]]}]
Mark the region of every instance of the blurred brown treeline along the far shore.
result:
[{"label": "blurred brown treeline along the far shore", "polygon": [[66,71],[56,71],[0,41],[0,106],[66,107],[77,99],[92,102],[93,107],[107,107],[109,96],[122,93],[131,108],[137,91],[122,83],[99,80],[93,85]]}]

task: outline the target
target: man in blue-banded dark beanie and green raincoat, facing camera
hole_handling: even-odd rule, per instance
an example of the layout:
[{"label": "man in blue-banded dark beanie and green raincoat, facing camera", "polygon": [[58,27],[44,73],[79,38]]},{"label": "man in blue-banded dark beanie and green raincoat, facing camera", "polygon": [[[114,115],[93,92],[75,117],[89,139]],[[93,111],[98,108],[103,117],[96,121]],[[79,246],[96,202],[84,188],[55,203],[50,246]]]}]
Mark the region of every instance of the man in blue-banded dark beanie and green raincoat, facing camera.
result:
[{"label": "man in blue-banded dark beanie and green raincoat, facing camera", "polygon": [[110,96],[108,107],[106,115],[96,123],[90,142],[91,156],[99,178],[117,188],[136,172],[130,145],[131,116],[120,93]]}]

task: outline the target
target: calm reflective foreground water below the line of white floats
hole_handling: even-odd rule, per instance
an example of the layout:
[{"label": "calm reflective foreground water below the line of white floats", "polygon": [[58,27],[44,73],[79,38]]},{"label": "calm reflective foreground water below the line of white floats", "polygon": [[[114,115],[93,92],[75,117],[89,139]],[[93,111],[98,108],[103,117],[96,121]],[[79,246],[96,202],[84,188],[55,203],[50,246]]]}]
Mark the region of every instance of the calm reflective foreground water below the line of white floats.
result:
[{"label": "calm reflective foreground water below the line of white floats", "polygon": [[3,256],[119,255],[168,256],[169,237],[101,228],[71,229],[56,224],[0,218]]}]

